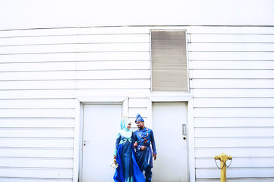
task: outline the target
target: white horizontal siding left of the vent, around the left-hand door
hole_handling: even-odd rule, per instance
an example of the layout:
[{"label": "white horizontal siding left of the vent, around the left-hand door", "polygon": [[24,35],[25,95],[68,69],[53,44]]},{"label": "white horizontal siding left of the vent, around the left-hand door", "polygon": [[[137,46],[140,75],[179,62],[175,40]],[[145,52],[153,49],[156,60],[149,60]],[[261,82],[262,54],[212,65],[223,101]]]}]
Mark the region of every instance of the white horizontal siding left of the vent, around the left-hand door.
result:
[{"label": "white horizontal siding left of the vent, around the left-hand door", "polygon": [[75,97],[127,96],[147,119],[147,27],[0,31],[0,181],[73,179]]}]

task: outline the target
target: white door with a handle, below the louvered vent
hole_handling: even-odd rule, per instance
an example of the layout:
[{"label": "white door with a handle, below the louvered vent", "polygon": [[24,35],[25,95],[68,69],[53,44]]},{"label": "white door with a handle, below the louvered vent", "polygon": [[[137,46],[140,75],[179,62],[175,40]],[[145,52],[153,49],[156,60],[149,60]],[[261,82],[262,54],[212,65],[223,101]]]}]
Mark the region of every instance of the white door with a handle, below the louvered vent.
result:
[{"label": "white door with a handle, below the louvered vent", "polygon": [[153,182],[187,182],[186,104],[153,103],[152,121],[158,153],[153,161]]}]

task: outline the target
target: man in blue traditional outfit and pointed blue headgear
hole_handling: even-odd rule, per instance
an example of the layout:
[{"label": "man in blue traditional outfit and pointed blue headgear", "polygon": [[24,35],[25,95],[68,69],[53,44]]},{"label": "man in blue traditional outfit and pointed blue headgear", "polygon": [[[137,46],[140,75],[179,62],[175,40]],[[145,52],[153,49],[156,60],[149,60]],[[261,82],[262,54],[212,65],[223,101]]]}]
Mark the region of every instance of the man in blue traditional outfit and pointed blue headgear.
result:
[{"label": "man in blue traditional outfit and pointed blue headgear", "polygon": [[152,158],[156,160],[157,155],[153,131],[145,127],[144,120],[139,114],[136,116],[135,122],[138,126],[138,130],[133,134],[136,160],[140,170],[142,172],[145,170],[146,182],[150,182],[152,177],[151,168],[153,167]]}]

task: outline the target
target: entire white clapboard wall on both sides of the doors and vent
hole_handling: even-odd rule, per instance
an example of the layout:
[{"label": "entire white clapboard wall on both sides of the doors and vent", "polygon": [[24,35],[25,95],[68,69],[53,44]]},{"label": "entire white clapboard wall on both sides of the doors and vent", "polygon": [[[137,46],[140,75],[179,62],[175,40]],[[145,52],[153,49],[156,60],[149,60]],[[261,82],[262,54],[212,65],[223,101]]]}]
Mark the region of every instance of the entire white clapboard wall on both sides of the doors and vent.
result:
[{"label": "entire white clapboard wall on both sides of the doors and vent", "polygon": [[73,181],[76,96],[147,119],[151,29],[188,31],[196,180],[274,181],[274,27],[218,26],[0,31],[0,181]]}]

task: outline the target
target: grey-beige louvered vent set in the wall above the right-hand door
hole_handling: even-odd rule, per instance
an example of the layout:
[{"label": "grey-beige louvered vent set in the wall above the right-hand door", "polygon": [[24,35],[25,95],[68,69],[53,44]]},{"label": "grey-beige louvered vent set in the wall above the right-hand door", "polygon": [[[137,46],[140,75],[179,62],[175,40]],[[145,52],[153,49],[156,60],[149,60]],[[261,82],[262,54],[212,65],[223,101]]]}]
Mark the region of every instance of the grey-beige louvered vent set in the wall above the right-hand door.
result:
[{"label": "grey-beige louvered vent set in the wall above the right-hand door", "polygon": [[152,91],[188,91],[186,31],[151,30]]}]

